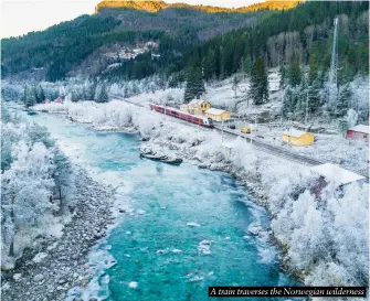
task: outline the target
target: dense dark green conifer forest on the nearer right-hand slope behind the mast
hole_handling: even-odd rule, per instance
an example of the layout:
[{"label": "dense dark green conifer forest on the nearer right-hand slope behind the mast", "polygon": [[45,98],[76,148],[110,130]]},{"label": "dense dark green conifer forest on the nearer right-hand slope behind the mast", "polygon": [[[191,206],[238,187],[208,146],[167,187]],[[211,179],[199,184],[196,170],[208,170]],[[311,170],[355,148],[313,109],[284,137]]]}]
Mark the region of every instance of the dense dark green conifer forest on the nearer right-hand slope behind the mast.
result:
[{"label": "dense dark green conifer forest on the nearer right-hand slope behind the mast", "polygon": [[[369,68],[369,2],[306,2],[274,12],[253,29],[242,29],[214,37],[184,56],[184,65],[199,62],[204,78],[224,78],[244,69],[263,56],[268,67],[287,65],[294,57],[300,64],[315,64],[326,71],[330,64],[332,20],[339,15],[339,62],[343,76]],[[314,62],[313,62],[314,61]]]}]

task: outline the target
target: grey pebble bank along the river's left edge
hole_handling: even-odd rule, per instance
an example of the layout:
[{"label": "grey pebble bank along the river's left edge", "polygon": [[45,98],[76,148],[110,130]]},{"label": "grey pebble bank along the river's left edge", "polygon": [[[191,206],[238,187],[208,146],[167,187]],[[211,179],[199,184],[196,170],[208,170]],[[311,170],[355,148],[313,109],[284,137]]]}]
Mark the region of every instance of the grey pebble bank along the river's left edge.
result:
[{"label": "grey pebble bank along the river's left edge", "polygon": [[91,271],[87,254],[105,237],[114,217],[110,212],[113,187],[93,181],[76,169],[73,217],[61,238],[45,238],[35,249],[28,249],[15,268],[3,271],[2,300],[59,301],[76,286],[86,286]]}]

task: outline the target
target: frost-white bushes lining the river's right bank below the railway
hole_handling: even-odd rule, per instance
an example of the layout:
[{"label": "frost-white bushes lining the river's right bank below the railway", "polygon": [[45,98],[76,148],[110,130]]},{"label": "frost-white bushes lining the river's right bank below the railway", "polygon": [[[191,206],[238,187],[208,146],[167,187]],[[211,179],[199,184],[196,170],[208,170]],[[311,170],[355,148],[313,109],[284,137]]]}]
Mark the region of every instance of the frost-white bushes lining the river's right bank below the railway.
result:
[{"label": "frost-white bushes lining the river's right bank below the railway", "polygon": [[369,244],[368,184],[347,185],[338,194],[338,183],[334,181],[317,197],[311,194],[317,174],[308,166],[260,152],[243,139],[226,135],[222,138],[219,132],[136,110],[120,101],[110,101],[99,109],[95,106],[73,104],[64,109],[67,116],[88,119],[93,126],[130,128],[145,143],[197,160],[200,168],[226,171],[246,185],[254,193],[254,201],[271,213],[269,234],[281,246],[282,266],[305,284],[368,283],[369,252],[363,248]]}]

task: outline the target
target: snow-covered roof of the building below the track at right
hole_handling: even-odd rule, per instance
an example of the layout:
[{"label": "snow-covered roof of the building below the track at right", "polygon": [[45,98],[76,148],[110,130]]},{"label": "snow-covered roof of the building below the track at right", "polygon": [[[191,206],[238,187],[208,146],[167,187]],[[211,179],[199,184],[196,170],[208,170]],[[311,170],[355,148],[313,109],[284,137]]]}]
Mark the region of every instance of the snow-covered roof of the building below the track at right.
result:
[{"label": "snow-covered roof of the building below the track at right", "polygon": [[351,182],[362,181],[364,178],[355,172],[345,170],[339,165],[325,163],[310,168],[311,171],[323,175],[329,181],[334,181],[340,185],[346,185]]}]

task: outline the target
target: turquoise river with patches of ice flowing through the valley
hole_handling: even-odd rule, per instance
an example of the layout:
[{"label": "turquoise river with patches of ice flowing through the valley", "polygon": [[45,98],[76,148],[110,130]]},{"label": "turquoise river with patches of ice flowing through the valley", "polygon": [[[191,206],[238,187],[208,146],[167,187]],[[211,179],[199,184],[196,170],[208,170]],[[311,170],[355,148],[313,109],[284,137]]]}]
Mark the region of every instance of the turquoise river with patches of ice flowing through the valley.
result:
[{"label": "turquoise river with patches of ice flowing through the valley", "polygon": [[278,268],[268,214],[228,173],[187,160],[180,166],[141,160],[135,135],[97,132],[47,114],[31,118],[117,189],[117,223],[89,254],[91,282],[67,300],[198,301],[215,299],[209,286],[297,283]]}]

